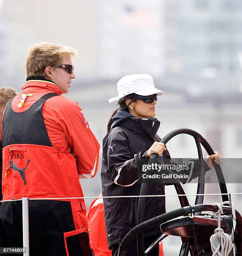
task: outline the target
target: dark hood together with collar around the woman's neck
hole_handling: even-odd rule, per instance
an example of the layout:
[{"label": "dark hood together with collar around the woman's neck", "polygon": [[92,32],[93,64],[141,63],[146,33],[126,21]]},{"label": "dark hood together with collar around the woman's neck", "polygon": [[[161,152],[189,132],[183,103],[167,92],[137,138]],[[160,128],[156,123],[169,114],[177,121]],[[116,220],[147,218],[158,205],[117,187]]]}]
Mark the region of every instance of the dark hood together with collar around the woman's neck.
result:
[{"label": "dark hood together with collar around the woman's neck", "polygon": [[122,126],[136,133],[147,133],[152,138],[154,138],[160,126],[160,121],[157,118],[136,118],[122,109],[118,110],[112,120],[111,129]]}]

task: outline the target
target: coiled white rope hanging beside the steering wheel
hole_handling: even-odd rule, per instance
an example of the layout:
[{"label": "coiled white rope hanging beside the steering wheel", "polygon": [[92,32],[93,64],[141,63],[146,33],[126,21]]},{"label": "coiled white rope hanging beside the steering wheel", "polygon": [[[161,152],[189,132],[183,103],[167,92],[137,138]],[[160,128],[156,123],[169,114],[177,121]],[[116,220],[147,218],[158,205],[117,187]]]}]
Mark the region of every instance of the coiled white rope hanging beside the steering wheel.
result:
[{"label": "coiled white rope hanging beside the steering wheel", "polygon": [[[224,233],[224,230],[220,228],[220,215],[223,213],[222,206],[228,204],[231,204],[232,207],[232,222],[233,222],[233,228],[231,230],[231,235]],[[228,256],[230,251],[233,248],[233,241],[232,241],[232,235],[235,230],[236,226],[236,220],[235,220],[235,208],[232,202],[226,201],[222,202],[222,204],[219,203],[213,203],[213,205],[217,205],[219,210],[217,212],[213,212],[215,214],[218,214],[218,228],[214,230],[214,234],[210,237],[210,243],[211,243],[211,249],[212,249],[212,256]],[[235,255],[235,251],[234,251]]]}]

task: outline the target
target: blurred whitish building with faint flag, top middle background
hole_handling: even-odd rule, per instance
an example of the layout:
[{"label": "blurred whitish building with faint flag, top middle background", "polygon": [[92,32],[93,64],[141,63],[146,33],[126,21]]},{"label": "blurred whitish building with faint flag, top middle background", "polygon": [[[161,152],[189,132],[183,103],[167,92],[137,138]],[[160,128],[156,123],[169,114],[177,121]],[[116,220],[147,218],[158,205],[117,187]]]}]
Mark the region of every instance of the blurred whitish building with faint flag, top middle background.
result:
[{"label": "blurred whitish building with faint flag, top middle background", "polygon": [[100,77],[164,73],[164,3],[101,1]]}]

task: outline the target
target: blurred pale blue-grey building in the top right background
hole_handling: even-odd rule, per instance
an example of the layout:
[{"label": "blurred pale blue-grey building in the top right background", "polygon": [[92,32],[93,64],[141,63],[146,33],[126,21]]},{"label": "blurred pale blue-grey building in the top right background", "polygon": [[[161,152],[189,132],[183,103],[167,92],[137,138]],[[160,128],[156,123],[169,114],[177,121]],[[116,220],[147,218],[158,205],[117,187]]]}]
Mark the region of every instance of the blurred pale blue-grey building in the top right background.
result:
[{"label": "blurred pale blue-grey building in the top right background", "polygon": [[[168,61],[167,73],[207,79],[241,77],[240,0],[167,0],[165,6],[166,25],[173,24],[176,35],[172,40],[176,58],[173,64]],[[168,48],[167,57],[172,53]]]}]

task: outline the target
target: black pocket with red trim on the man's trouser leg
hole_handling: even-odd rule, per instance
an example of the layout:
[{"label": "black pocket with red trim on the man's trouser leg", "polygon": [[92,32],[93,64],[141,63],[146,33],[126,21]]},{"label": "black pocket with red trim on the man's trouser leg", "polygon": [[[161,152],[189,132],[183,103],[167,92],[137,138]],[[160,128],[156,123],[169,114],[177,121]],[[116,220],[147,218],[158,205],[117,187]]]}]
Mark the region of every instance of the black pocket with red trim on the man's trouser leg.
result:
[{"label": "black pocket with red trim on the man's trouser leg", "polygon": [[64,233],[64,242],[67,256],[94,256],[86,228]]}]

